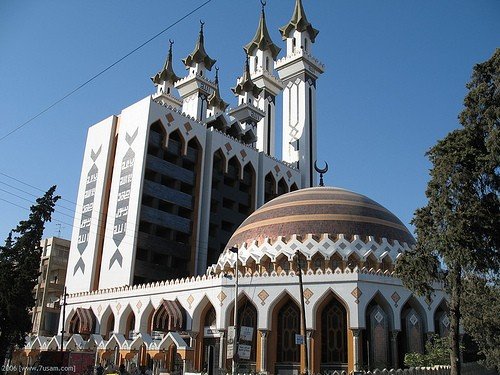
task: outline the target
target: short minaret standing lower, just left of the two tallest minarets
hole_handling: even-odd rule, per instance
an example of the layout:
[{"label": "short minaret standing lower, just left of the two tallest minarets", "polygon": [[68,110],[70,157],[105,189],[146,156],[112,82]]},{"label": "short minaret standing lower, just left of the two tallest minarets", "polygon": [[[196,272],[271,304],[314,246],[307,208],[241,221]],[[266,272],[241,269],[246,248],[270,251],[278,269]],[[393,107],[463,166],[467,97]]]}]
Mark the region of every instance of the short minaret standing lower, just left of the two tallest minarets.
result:
[{"label": "short minaret standing lower, just left of the two tallest minarets", "polygon": [[248,60],[247,55],[243,76],[237,80],[236,86],[231,89],[234,95],[238,97],[238,106],[229,111],[229,115],[240,122],[244,132],[242,141],[255,147],[257,123],[264,117],[264,111],[255,106],[262,89],[258,88],[252,81]]}]

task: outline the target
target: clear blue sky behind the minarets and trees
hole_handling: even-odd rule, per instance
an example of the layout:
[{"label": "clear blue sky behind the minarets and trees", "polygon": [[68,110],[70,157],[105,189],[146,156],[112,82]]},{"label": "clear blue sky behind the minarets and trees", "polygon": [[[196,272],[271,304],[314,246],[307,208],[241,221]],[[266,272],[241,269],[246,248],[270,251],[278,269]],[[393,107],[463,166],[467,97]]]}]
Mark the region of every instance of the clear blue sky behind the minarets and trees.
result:
[{"label": "clear blue sky behind the minarets and trees", "polygon": [[[317,104],[318,159],[330,164],[326,183],[375,199],[408,225],[425,204],[425,152],[459,126],[473,65],[500,46],[500,1],[303,2],[320,30],[313,54],[326,65]],[[1,1],[0,137],[201,3]],[[278,45],[278,28],[293,4],[268,0],[268,27]],[[149,77],[161,68],[169,38],[175,71],[183,76],[180,60],[194,47],[199,19],[206,22],[207,52],[220,68],[222,96],[234,105],[230,87],[259,14],[258,0],[212,0],[2,140],[0,241],[27,216],[30,194],[42,193],[33,187],[52,184],[67,201],[45,234],[57,235],[62,222],[61,235],[70,238],[88,127],[154,92]]]}]

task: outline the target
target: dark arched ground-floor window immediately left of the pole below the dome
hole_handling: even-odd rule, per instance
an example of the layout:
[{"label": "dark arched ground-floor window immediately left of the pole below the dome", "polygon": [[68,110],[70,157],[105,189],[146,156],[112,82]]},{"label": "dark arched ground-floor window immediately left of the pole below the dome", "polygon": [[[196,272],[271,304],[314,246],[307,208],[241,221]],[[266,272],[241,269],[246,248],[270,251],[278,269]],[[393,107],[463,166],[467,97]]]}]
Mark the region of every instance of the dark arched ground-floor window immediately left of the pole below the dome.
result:
[{"label": "dark arched ground-floor window immediately left of the pole below the dome", "polygon": [[300,346],[295,344],[295,335],[299,331],[299,308],[288,301],[278,313],[278,362],[300,361]]}]

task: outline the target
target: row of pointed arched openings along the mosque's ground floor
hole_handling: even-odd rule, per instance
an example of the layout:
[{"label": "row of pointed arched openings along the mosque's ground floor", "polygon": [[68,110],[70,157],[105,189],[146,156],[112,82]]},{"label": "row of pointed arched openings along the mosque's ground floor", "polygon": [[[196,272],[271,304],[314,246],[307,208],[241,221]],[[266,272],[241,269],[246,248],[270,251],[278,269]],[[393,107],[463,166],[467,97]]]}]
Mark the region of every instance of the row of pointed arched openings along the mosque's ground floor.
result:
[{"label": "row of pointed arched openings along the mosque's ground floor", "polygon": [[[103,314],[99,324],[91,309],[78,308],[69,319],[69,332],[84,338],[89,338],[92,332],[101,333],[107,341],[104,350],[102,347],[97,349],[102,363],[128,366],[135,363],[170,371],[188,366],[192,371],[205,370],[209,374],[215,374],[218,368],[231,368],[231,359],[226,356],[227,330],[217,326],[220,320],[209,301],[199,307],[198,324],[186,315],[177,300],[162,300],[155,309],[147,309],[141,316],[127,309],[119,319],[112,312]],[[313,311],[314,316],[307,317],[307,326],[314,329],[307,329],[306,340],[309,363],[315,373],[361,367],[397,368],[406,352],[423,352],[428,332],[427,314],[414,297],[410,297],[400,310],[398,327],[401,329],[398,330],[395,329],[395,311],[380,293],[376,293],[366,306],[364,329],[350,328],[353,312],[332,291],[318,301]],[[229,307],[226,327],[233,325],[233,313],[233,307]],[[249,358],[239,361],[240,371],[277,374],[304,370],[305,349],[295,341],[296,335],[301,333],[298,301],[285,292],[273,302],[266,329],[258,326],[259,314],[258,306],[243,294],[238,301],[238,327],[251,327],[253,333],[251,340],[240,342],[251,347]],[[443,301],[434,312],[434,326],[440,335],[448,332],[447,315]],[[120,342],[118,332],[125,333],[128,347]],[[190,347],[190,353],[175,341],[168,345],[151,345],[154,340],[159,343],[168,333],[179,334]]]}]

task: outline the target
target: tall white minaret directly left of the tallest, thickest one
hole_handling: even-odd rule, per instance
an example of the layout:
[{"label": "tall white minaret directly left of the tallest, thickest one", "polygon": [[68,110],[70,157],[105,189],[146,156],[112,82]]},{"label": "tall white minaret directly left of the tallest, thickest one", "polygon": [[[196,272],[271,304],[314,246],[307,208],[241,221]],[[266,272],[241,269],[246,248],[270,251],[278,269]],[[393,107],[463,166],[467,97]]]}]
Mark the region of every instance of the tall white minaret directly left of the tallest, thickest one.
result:
[{"label": "tall white minaret directly left of the tallest, thickest one", "polygon": [[257,149],[275,156],[276,148],[276,95],[283,90],[283,83],[273,75],[274,62],[281,48],[276,46],[269,36],[266,26],[265,2],[262,3],[259,26],[253,39],[244,49],[250,57],[252,81],[261,88],[256,106],[264,111],[265,116],[257,124]]}]

